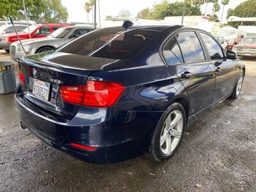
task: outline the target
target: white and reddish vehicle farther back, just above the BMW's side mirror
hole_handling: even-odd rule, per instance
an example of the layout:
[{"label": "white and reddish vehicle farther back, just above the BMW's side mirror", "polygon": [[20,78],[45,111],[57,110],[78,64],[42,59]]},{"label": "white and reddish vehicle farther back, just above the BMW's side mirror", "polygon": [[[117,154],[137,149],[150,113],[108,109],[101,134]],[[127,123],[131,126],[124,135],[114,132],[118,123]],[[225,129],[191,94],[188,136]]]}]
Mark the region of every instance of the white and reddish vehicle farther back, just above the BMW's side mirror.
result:
[{"label": "white and reddish vehicle farther back, just above the BMW's side mirror", "polygon": [[230,26],[220,28],[220,31],[217,33],[219,36],[224,36],[227,40],[227,49],[232,50],[234,45],[239,44],[239,42],[246,37],[246,32],[240,29],[232,28]]}]

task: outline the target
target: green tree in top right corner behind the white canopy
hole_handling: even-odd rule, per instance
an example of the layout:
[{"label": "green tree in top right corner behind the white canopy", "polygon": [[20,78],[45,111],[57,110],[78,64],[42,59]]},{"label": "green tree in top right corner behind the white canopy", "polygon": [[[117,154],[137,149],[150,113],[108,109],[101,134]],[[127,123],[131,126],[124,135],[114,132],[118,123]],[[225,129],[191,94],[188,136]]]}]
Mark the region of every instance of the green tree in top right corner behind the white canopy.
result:
[{"label": "green tree in top right corner behind the white canopy", "polygon": [[[236,6],[236,8],[229,9],[227,13],[227,19],[230,16],[236,16],[236,17],[256,17],[256,0],[248,0],[244,1],[243,3]],[[237,28],[240,24],[240,22],[228,22],[230,26],[233,26],[234,28]],[[248,21],[243,22],[244,26],[255,26],[256,22]]]}]

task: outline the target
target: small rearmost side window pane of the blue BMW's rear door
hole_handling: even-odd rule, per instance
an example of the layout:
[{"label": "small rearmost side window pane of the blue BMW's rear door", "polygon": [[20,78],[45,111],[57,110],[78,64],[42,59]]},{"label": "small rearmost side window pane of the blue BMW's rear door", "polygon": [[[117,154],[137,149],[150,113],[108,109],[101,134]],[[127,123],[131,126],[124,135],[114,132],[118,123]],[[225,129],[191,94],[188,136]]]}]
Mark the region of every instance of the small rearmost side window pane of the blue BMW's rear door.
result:
[{"label": "small rearmost side window pane of the blue BMW's rear door", "polygon": [[183,63],[180,48],[175,37],[164,47],[163,56],[168,65]]}]

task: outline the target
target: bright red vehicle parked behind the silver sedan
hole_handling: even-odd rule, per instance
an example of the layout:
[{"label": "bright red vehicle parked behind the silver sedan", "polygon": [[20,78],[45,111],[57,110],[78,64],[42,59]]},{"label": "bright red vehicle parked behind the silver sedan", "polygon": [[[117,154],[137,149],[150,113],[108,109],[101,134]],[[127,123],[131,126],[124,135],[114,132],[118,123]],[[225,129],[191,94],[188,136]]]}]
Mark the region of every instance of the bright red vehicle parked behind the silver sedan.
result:
[{"label": "bright red vehicle parked behind the silver sedan", "polygon": [[[29,27],[31,38],[42,38],[58,28],[70,26],[70,24],[35,24]],[[19,34],[20,40],[29,38],[29,30],[28,28],[21,31]],[[6,52],[10,51],[10,45],[12,42],[19,40],[16,33],[8,33],[0,36],[0,47],[4,49]]]}]

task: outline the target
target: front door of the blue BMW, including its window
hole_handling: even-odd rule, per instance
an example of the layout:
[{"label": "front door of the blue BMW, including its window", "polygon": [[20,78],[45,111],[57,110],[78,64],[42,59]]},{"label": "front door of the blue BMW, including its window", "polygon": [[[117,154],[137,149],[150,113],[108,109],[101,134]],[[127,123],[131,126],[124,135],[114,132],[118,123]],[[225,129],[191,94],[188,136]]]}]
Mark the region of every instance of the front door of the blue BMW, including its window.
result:
[{"label": "front door of the blue BMW, including its window", "polygon": [[221,46],[207,33],[199,32],[202,42],[207,49],[209,58],[216,74],[216,86],[213,102],[217,102],[232,92],[239,72],[238,65],[233,60],[227,60]]}]

